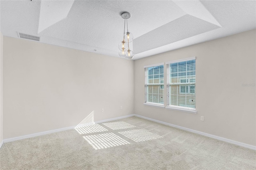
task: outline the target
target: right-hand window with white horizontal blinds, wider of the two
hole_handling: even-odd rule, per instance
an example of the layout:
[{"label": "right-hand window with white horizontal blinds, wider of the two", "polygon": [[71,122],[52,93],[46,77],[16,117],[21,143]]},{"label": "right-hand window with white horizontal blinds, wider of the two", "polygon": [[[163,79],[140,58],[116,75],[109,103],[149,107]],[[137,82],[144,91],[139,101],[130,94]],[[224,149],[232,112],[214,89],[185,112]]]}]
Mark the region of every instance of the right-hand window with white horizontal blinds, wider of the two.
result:
[{"label": "right-hand window with white horizontal blinds, wider of the two", "polygon": [[184,109],[196,108],[196,60],[167,64],[167,105]]}]

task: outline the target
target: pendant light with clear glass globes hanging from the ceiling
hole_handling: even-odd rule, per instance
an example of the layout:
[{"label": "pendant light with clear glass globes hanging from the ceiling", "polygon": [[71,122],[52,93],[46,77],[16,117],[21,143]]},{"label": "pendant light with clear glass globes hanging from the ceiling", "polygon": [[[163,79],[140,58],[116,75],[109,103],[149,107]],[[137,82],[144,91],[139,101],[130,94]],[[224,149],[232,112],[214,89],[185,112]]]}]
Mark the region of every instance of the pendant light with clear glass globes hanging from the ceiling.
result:
[{"label": "pendant light with clear glass globes hanging from the ceiling", "polygon": [[[128,31],[128,22],[127,19],[131,17],[129,12],[123,12],[121,17],[124,18],[124,36],[122,42],[119,43],[119,56],[124,57],[126,59],[133,59],[134,52],[131,50],[131,42],[133,40],[133,35]],[[125,24],[126,24],[126,32],[125,32]]]}]

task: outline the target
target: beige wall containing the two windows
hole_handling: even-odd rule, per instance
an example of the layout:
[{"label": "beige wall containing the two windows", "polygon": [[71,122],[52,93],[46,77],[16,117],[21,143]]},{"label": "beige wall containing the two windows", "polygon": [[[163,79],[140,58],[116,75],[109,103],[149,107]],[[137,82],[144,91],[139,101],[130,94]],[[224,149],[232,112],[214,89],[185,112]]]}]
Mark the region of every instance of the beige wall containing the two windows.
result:
[{"label": "beige wall containing the two windows", "polygon": [[[136,60],[134,113],[256,146],[256,87],[242,86],[256,83],[255,48],[251,30]],[[144,65],[194,56],[197,114],[143,105]]]}]

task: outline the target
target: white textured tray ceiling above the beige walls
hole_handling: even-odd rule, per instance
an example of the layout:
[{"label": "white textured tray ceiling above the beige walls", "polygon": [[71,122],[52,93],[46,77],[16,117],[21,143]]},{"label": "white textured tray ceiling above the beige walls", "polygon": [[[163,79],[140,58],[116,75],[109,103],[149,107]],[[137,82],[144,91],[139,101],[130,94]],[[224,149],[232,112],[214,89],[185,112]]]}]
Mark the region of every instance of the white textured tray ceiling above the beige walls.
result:
[{"label": "white textured tray ceiling above the beige walls", "polygon": [[116,57],[130,12],[134,59],[256,28],[255,0],[1,0],[0,10],[4,36]]}]

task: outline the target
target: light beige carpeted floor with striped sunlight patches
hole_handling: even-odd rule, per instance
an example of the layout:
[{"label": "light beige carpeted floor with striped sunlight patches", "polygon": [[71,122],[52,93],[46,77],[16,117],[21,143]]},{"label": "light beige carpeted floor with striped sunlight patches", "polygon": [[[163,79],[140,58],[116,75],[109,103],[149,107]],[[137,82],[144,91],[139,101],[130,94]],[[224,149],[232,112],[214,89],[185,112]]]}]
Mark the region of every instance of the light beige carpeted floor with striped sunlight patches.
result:
[{"label": "light beige carpeted floor with striped sunlight patches", "polygon": [[4,143],[1,170],[255,170],[256,151],[138,117]]}]

